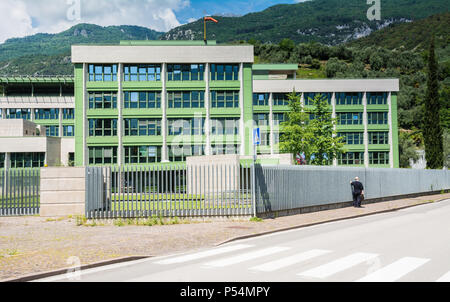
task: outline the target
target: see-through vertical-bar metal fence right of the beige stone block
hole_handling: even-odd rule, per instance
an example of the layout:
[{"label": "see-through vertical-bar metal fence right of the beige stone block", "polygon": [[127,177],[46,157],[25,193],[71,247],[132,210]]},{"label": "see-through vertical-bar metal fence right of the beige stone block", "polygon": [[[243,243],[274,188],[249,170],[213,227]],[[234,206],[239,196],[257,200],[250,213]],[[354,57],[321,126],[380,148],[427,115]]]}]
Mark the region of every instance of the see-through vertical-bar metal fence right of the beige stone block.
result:
[{"label": "see-through vertical-bar metal fence right of the beige stone block", "polygon": [[252,215],[251,165],[86,168],[86,217]]}]

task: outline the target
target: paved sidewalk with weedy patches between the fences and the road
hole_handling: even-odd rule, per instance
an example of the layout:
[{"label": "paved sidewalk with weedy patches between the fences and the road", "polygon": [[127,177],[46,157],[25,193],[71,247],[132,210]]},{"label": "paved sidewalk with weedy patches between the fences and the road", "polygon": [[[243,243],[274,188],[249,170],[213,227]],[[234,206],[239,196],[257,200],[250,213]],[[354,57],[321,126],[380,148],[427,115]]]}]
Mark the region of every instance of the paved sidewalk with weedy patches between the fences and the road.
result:
[{"label": "paved sidewalk with weedy patches between the fences and the road", "polygon": [[[348,219],[443,200],[450,193],[266,219],[164,226],[77,226],[75,219],[0,218],[0,280],[130,256],[162,256],[248,236]],[[447,201],[445,201],[447,202]]]}]

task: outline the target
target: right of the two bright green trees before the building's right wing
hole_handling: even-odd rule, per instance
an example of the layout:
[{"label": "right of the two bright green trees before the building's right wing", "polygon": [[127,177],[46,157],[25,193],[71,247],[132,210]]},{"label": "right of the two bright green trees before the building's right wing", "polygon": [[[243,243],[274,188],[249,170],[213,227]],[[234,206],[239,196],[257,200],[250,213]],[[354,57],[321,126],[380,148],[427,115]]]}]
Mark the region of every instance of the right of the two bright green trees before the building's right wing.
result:
[{"label": "right of the two bright green trees before the building's right wing", "polygon": [[343,137],[337,136],[337,119],[332,117],[331,106],[327,99],[318,94],[313,100],[311,113],[314,119],[310,122],[311,131],[314,136],[311,160],[313,165],[325,166],[332,163],[339,154],[344,153]]}]

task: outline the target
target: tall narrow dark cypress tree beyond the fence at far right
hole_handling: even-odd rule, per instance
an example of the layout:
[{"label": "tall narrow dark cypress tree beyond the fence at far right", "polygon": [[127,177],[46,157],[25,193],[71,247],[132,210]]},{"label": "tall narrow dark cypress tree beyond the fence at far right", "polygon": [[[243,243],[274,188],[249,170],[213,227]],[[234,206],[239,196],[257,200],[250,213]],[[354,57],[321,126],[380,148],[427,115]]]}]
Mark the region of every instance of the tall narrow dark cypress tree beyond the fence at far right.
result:
[{"label": "tall narrow dark cypress tree beyond the fence at far right", "polygon": [[444,165],[443,131],[439,111],[438,64],[434,50],[434,36],[432,36],[428,57],[428,79],[423,122],[425,157],[429,169],[442,169]]}]

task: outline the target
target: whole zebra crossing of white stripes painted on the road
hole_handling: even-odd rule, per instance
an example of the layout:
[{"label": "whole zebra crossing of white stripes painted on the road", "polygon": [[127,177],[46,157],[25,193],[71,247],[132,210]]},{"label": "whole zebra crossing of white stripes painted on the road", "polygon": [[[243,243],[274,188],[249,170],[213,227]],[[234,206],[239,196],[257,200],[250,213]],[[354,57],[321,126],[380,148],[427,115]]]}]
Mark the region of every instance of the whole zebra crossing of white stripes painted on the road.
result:
[{"label": "whole zebra crossing of white stripes painted on the road", "polygon": [[[328,257],[326,261],[320,261],[320,257]],[[288,246],[273,246],[258,248],[251,244],[237,244],[227,247],[215,248],[198,253],[168,257],[155,261],[157,265],[196,265],[199,269],[225,269],[233,265],[239,266],[248,272],[273,273],[282,269],[297,269],[298,273],[292,276],[292,281],[327,281],[332,276],[351,270],[360,265],[369,265],[376,262],[382,255],[376,253],[354,252],[342,256],[336,251],[312,249],[307,251],[295,251]],[[333,260],[329,260],[329,257]],[[212,258],[212,259],[211,259]],[[431,259],[418,257],[400,257],[399,259],[379,265],[370,270],[364,276],[360,276],[353,282],[395,282],[408,274],[414,273],[418,268],[427,265]],[[249,262],[250,264],[246,265]],[[255,262],[258,262],[255,265]],[[302,263],[314,267],[302,270]],[[342,280],[347,281],[347,280]],[[450,271],[443,274],[437,282],[450,282]]]}]

